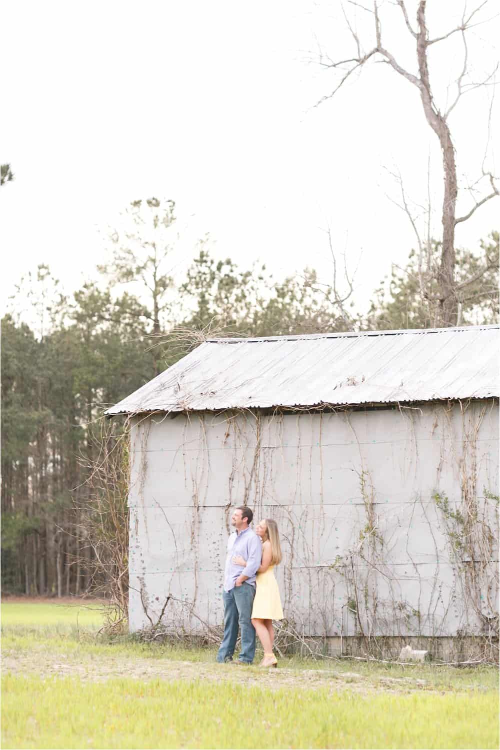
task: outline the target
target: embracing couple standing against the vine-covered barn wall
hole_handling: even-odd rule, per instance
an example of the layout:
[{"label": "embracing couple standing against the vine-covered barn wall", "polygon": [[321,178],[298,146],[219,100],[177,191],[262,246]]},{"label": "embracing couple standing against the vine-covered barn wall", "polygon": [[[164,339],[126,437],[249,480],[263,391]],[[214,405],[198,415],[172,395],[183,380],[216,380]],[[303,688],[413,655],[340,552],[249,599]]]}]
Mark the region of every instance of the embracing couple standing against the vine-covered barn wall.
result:
[{"label": "embracing couple standing against the vine-covered barn wall", "polygon": [[227,543],[224,571],[224,635],[217,661],[232,661],[241,628],[238,664],[251,664],[255,655],[256,633],[264,649],[261,667],[276,667],[273,653],[273,620],[283,619],[280,591],[274,565],[281,562],[280,537],[271,518],[250,529],[253,512],[240,505],[232,514],[235,532]]}]

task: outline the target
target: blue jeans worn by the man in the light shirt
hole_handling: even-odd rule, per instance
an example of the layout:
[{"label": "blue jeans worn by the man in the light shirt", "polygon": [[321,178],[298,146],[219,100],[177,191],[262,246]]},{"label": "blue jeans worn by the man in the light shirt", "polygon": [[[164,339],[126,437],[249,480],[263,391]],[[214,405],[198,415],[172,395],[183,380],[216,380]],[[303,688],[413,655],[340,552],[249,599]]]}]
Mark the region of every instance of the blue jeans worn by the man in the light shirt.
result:
[{"label": "blue jeans worn by the man in the light shirt", "polygon": [[255,628],[252,625],[252,607],[255,586],[244,581],[231,591],[223,591],[224,635],[217,661],[232,661],[238,638],[238,625],[241,627],[241,652],[239,661],[251,664],[255,656]]}]

